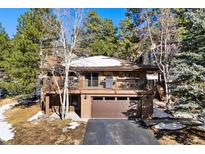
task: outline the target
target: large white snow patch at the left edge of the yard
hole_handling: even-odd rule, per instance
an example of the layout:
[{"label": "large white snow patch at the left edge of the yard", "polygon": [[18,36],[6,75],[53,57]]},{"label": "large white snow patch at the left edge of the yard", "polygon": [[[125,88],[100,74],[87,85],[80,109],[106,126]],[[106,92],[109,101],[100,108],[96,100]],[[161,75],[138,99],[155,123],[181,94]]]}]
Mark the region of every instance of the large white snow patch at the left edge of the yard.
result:
[{"label": "large white snow patch at the left edge of the yard", "polygon": [[9,103],[0,107],[0,139],[3,141],[13,139],[15,135],[14,129],[12,128],[12,125],[6,121],[4,113],[13,108],[16,104],[17,103]]}]

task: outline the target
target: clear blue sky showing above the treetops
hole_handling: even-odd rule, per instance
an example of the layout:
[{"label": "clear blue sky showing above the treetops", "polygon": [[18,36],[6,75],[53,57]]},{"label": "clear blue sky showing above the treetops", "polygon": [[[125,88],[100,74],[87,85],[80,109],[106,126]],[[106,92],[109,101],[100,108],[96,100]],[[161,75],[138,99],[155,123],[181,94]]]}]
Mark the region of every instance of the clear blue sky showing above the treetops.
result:
[{"label": "clear blue sky showing above the treetops", "polygon": [[[114,8],[96,8],[89,9],[96,10],[100,17],[110,18],[113,20],[114,24],[117,26],[120,20],[125,17],[126,9],[114,9]],[[16,33],[16,25],[18,17],[28,11],[28,9],[0,9],[0,22],[3,27],[6,29],[6,32],[9,34],[9,37],[12,37]]]}]

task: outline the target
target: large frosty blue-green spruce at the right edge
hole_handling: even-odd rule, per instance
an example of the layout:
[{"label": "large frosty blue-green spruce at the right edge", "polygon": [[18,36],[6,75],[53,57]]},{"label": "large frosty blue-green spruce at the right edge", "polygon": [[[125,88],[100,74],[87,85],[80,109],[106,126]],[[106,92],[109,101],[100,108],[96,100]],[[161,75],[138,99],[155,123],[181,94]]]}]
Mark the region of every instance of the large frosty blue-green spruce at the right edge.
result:
[{"label": "large frosty blue-green spruce at the right edge", "polygon": [[201,113],[205,102],[205,10],[185,12],[181,48],[173,61],[176,110]]}]

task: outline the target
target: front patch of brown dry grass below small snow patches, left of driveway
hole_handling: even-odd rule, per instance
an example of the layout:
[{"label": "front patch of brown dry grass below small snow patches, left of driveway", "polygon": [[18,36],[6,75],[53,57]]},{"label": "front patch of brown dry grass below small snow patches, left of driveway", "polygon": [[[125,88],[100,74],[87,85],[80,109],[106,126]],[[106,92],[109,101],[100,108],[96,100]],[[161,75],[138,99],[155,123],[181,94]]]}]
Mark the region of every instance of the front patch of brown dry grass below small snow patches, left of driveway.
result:
[{"label": "front patch of brown dry grass below small snow patches, left of driveway", "polygon": [[12,145],[54,145],[54,144],[82,144],[85,124],[81,123],[74,130],[63,132],[68,120],[38,121],[33,124],[22,123],[16,125],[13,140],[7,142]]}]

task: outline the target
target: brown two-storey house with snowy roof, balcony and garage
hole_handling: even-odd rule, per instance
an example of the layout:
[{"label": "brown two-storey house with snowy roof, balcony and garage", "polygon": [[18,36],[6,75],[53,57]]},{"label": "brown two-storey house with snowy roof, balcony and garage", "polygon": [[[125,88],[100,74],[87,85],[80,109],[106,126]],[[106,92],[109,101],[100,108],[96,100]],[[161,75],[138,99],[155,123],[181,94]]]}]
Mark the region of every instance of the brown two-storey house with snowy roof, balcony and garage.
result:
[{"label": "brown two-storey house with snowy roof, balcony and garage", "polygon": [[[61,65],[58,70],[62,69]],[[156,67],[93,56],[74,58],[70,70],[70,110],[74,110],[81,118],[152,116]],[[58,89],[64,86],[63,76],[57,71],[53,77],[47,71],[42,85],[42,109],[47,114],[57,112],[60,107]]]}]

